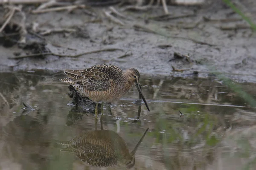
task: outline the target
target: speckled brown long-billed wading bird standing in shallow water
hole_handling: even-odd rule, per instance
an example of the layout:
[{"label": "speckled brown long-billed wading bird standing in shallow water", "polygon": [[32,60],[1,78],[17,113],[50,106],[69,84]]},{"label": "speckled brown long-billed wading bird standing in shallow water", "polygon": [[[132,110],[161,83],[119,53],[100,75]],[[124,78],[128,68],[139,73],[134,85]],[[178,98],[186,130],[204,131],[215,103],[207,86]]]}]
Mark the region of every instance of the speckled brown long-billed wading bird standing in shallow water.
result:
[{"label": "speckled brown long-billed wading bird standing in shallow water", "polygon": [[135,68],[122,71],[115,65],[93,65],[84,70],[65,70],[67,78],[60,79],[77,90],[81,96],[96,102],[95,115],[98,116],[98,103],[114,102],[124,96],[133,85],[139,91],[148,111],[148,104],[139,87],[140,73]]}]

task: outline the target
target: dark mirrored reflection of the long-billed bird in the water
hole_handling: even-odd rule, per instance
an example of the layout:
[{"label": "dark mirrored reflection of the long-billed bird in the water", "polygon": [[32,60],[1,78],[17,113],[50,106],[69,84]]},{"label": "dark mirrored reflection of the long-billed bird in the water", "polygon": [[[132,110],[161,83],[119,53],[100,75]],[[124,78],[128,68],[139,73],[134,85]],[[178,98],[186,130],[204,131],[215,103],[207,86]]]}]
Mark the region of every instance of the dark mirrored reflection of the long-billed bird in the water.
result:
[{"label": "dark mirrored reflection of the long-billed bird in the water", "polygon": [[[101,117],[102,118],[102,117]],[[135,153],[140,143],[143,141],[148,129],[141,137],[140,141],[129,152],[125,141],[112,130],[103,130],[101,122],[101,130],[87,131],[76,136],[67,142],[57,142],[64,149],[61,151],[76,153],[76,156],[91,166],[111,167],[113,165],[121,165],[131,168],[135,164]]]}]

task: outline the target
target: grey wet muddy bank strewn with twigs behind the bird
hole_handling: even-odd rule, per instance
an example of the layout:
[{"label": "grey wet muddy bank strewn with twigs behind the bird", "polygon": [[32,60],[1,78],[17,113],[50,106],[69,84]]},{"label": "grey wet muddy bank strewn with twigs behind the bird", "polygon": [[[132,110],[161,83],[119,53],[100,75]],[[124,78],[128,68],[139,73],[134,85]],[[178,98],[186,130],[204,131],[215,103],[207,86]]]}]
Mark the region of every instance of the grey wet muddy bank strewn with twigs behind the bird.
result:
[{"label": "grey wet muddy bank strewn with twigs behind the bird", "polygon": [[[242,6],[255,19],[256,2],[247,0]],[[155,17],[164,14],[161,6],[146,11],[114,8],[125,16],[116,17],[121,24],[103,14],[110,11],[109,6],[42,14],[31,13],[35,6],[23,7],[26,45],[6,43],[6,36],[1,35],[0,71],[114,64],[123,69],[138,68],[142,74],[190,77],[198,73],[199,77],[208,77],[220,72],[238,81],[256,82],[256,36],[222,1],[168,6],[171,15],[167,18]],[[22,18],[17,12],[12,21]],[[13,33],[12,29],[6,28],[3,33]],[[66,30],[47,34],[53,29]],[[17,42],[20,37],[14,38]],[[102,49],[106,51],[99,51]],[[89,53],[75,56],[84,52]],[[47,55],[13,59],[41,53]]]}]

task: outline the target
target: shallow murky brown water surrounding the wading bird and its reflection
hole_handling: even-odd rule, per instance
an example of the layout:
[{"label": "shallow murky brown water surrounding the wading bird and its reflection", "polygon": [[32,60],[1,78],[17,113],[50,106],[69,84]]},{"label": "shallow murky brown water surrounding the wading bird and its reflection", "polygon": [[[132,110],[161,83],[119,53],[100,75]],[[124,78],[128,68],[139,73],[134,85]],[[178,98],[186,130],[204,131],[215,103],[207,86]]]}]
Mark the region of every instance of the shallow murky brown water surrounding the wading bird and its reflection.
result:
[{"label": "shallow murky brown water surrounding the wading bird and its reflection", "polygon": [[[50,71],[0,73],[0,169],[100,169],[52,146],[95,130],[92,113],[76,113],[68,105],[68,85],[58,81],[62,77]],[[215,77],[143,75],[140,84],[150,112],[134,103],[139,98],[134,87],[111,107],[106,105],[103,116],[103,128],[121,136],[130,150],[149,127],[135,169],[256,168],[255,84],[231,83],[229,88]],[[22,102],[35,111],[23,110]]]}]

